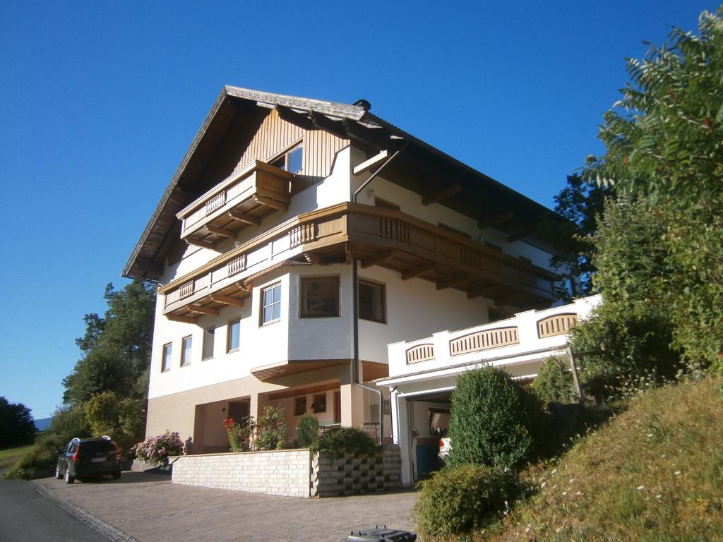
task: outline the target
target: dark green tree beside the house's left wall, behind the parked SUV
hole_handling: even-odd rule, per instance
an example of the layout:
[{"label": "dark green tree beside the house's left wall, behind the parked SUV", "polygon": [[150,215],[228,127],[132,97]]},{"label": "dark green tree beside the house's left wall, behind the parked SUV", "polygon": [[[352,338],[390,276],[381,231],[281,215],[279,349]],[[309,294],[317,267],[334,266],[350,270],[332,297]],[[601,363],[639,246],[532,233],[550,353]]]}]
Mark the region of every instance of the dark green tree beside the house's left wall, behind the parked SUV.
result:
[{"label": "dark green tree beside the house's left wall, behind the parked SUV", "polygon": [[93,395],[145,397],[150,364],[155,290],[134,281],[121,291],[106,286],[103,318],[86,314],[85,335],[76,340],[83,356],[63,380],[64,403],[85,403]]}]

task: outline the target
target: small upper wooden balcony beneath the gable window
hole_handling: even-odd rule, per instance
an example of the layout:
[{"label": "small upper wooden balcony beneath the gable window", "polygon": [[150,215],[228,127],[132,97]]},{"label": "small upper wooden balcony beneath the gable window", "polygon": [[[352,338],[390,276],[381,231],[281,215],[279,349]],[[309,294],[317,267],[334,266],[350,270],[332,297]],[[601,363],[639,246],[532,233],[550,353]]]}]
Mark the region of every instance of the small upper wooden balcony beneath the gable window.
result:
[{"label": "small upper wooden balcony beneath the gable window", "polygon": [[212,249],[223,239],[235,239],[242,228],[288,209],[292,177],[256,160],[179,211],[181,239]]}]

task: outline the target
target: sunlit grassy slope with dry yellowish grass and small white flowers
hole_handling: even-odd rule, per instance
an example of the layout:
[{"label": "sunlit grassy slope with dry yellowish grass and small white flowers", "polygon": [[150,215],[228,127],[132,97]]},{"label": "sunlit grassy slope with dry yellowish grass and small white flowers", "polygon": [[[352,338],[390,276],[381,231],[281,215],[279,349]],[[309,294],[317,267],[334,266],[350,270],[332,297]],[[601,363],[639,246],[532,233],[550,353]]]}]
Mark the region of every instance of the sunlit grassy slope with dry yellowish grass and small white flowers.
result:
[{"label": "sunlit grassy slope with dry yellowish grass and small white flowers", "polygon": [[723,540],[723,380],[630,402],[547,470],[482,540]]}]

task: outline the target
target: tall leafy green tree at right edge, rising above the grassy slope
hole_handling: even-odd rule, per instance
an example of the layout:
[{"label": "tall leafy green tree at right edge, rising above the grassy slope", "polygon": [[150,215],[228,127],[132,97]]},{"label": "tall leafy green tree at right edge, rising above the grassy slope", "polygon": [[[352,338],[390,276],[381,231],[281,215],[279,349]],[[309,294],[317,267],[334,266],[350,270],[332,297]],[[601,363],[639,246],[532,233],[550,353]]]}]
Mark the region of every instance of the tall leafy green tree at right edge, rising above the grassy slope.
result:
[{"label": "tall leafy green tree at right edge, rising above the grassy slope", "polygon": [[630,82],[600,132],[604,155],[586,178],[633,194],[659,215],[671,291],[672,342],[693,364],[723,351],[723,8],[698,34],[629,59]]}]

